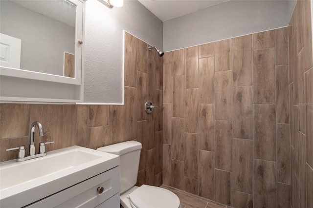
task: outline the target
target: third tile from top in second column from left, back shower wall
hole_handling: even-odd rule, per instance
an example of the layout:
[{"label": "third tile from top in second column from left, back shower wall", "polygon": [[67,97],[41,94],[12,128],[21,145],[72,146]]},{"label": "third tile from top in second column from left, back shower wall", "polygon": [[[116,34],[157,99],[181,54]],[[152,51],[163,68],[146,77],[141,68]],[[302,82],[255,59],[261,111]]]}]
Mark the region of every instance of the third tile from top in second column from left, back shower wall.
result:
[{"label": "third tile from top in second column from left, back shower wall", "polygon": [[171,157],[184,160],[184,119],[172,118]]}]

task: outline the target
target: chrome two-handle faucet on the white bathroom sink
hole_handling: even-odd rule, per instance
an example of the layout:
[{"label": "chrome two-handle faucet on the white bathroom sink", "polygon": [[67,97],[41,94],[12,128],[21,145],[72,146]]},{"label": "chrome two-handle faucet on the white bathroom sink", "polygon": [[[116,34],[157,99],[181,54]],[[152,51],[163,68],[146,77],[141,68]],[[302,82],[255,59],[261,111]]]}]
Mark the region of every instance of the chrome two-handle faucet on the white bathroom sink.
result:
[{"label": "chrome two-handle faucet on the white bathroom sink", "polygon": [[42,137],[44,136],[44,128],[43,125],[39,122],[36,121],[30,126],[30,144],[29,144],[29,155],[25,157],[25,146],[19,146],[19,147],[14,147],[10,149],[6,149],[6,151],[18,149],[19,150],[19,156],[16,159],[16,162],[22,162],[25,160],[37,158],[37,157],[43,157],[47,155],[45,151],[45,145],[54,143],[54,142],[41,142],[39,146],[39,152],[35,154],[35,142],[34,142],[34,135],[35,135],[35,127],[36,125],[38,126],[39,129],[39,135]]}]

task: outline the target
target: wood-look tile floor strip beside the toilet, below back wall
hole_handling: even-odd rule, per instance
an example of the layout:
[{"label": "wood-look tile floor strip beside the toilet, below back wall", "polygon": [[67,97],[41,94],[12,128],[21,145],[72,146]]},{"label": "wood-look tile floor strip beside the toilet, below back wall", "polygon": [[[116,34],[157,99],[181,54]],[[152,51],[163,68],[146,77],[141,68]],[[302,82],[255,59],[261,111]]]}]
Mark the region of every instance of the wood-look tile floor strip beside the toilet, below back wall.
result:
[{"label": "wood-look tile floor strip beside the toilet, below back wall", "polygon": [[161,187],[172,191],[179,197],[181,208],[231,208],[174,187],[166,185],[162,185]]}]

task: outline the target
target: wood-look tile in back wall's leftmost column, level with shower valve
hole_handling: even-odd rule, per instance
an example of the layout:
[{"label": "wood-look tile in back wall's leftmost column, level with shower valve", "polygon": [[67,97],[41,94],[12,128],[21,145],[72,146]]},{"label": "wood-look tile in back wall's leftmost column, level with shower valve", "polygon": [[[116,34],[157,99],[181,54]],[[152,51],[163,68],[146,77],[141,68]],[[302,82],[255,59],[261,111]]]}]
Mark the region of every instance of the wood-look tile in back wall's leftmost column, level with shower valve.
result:
[{"label": "wood-look tile in back wall's leftmost column, level with shower valve", "polygon": [[172,139],[172,104],[163,104],[163,144],[171,144]]}]

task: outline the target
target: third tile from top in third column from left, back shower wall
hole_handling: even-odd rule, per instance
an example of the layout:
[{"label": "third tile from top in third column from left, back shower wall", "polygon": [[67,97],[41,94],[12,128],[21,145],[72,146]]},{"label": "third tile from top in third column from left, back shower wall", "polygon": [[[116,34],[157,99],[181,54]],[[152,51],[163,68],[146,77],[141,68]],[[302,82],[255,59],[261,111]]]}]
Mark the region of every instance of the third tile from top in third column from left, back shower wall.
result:
[{"label": "third tile from top in third column from left, back shower wall", "polygon": [[185,133],[185,176],[198,179],[199,135]]}]

